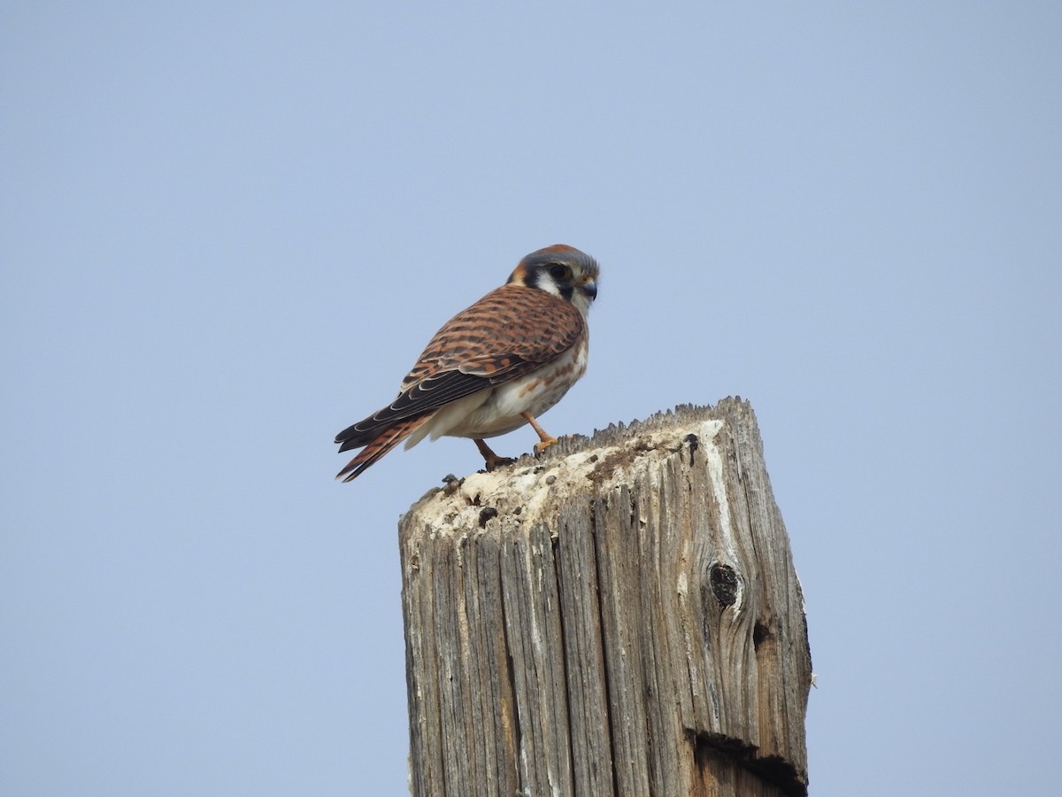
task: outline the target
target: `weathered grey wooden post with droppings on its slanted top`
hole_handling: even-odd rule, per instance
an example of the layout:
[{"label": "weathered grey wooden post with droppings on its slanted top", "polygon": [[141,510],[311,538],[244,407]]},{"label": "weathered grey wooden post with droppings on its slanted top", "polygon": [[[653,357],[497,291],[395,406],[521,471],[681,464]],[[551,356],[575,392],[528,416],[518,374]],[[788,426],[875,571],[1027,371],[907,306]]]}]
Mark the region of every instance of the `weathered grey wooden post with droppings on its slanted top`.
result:
[{"label": "weathered grey wooden post with droppings on its slanted top", "polygon": [[399,536],[417,797],[807,793],[807,628],[748,403],[453,481]]}]

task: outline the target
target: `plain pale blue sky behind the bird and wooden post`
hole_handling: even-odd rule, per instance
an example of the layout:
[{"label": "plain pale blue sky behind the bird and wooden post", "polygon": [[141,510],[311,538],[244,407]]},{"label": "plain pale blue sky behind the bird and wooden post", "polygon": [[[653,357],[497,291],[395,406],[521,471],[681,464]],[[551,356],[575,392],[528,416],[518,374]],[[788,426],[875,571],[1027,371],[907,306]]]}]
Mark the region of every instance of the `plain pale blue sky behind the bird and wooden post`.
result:
[{"label": "plain pale blue sky behind the bird and wooden post", "polygon": [[0,202],[0,794],[407,794],[481,460],[331,440],[555,242],[547,429],[756,410],[811,794],[1058,793],[1062,4],[3,2]]}]

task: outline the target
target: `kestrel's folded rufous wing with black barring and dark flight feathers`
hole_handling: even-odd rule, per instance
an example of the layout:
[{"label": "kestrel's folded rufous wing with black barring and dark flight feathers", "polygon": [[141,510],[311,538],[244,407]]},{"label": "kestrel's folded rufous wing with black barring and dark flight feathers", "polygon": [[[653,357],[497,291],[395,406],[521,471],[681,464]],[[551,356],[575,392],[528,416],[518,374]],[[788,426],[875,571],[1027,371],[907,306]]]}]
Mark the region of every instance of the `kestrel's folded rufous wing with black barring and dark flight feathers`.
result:
[{"label": "kestrel's folded rufous wing with black barring and dark flight feathers", "polygon": [[389,406],[336,436],[357,448],[396,422],[515,379],[551,362],[585,334],[582,313],[536,288],[503,285],[451,318],[421,354]]}]

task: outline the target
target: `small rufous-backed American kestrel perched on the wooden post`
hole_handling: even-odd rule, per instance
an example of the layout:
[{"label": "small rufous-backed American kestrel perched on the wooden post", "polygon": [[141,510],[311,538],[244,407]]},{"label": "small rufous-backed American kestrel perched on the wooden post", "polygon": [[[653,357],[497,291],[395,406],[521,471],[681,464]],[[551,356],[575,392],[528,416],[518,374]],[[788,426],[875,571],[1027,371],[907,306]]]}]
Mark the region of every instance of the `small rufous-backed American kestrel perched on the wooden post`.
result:
[{"label": "small rufous-backed American kestrel perched on the wooden post", "polygon": [[364,446],[336,478],[360,476],[406,440],[472,438],[487,470],[512,460],[484,438],[525,423],[541,454],[556,442],[535,422],[586,371],[586,315],[597,296],[598,265],[558,243],[532,252],[509,281],[435,333],[398,389],[398,397],[336,436],[341,452]]}]

